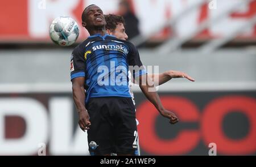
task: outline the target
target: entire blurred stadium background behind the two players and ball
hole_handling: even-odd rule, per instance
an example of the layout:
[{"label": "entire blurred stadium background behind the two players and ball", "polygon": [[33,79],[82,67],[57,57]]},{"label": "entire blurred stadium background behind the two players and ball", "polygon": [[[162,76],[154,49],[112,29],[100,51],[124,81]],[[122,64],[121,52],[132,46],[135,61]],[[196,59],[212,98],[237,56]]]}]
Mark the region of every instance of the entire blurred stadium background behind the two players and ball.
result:
[{"label": "entire blurred stadium background behind the two players and ball", "polygon": [[[256,155],[256,1],[130,0],[140,33],[130,38],[142,62],[159,72],[196,79],[159,87],[170,125],[134,87],[142,155]],[[88,155],[77,125],[69,81],[72,49],[88,36],[84,7],[118,14],[119,1],[1,0],[0,155]],[[76,45],[57,46],[51,21],[71,16],[80,25]],[[133,23],[127,23],[129,24]],[[154,72],[154,69],[153,69]]]}]

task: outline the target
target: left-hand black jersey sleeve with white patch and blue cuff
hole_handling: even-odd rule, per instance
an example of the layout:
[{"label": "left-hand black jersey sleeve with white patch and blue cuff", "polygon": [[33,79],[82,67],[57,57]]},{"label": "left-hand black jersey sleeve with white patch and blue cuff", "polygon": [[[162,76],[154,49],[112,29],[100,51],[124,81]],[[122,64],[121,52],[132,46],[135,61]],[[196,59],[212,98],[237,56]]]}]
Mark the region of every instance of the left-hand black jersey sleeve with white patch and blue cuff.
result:
[{"label": "left-hand black jersey sleeve with white patch and blue cuff", "polygon": [[84,59],[84,53],[82,49],[77,46],[72,52],[71,62],[70,62],[70,71],[71,71],[71,80],[77,77],[85,77],[85,68],[86,62]]}]

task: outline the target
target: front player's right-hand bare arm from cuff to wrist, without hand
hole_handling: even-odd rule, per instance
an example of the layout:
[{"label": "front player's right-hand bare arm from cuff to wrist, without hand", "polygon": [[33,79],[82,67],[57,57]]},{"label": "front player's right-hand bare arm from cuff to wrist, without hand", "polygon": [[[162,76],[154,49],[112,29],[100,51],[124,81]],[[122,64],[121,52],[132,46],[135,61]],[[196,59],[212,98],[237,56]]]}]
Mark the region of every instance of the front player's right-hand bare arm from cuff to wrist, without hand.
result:
[{"label": "front player's right-hand bare arm from cuff to wrist, without hand", "polygon": [[140,77],[139,87],[147,99],[155,106],[156,109],[158,109],[158,112],[163,112],[164,107],[160,101],[158,93],[156,92],[154,84],[152,84],[151,79],[148,78],[146,81],[143,81]]}]

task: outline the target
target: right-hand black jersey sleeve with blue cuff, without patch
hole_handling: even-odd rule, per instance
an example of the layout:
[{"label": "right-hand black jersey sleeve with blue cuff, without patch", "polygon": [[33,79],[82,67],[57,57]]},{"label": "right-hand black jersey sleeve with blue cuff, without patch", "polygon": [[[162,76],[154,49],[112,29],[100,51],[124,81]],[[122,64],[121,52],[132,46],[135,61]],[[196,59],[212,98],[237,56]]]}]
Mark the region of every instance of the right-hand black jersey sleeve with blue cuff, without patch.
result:
[{"label": "right-hand black jersey sleeve with blue cuff, without patch", "polygon": [[138,49],[133,44],[129,44],[130,52],[127,54],[130,71],[134,78],[147,74],[146,69],[142,65],[141,58],[139,57]]}]

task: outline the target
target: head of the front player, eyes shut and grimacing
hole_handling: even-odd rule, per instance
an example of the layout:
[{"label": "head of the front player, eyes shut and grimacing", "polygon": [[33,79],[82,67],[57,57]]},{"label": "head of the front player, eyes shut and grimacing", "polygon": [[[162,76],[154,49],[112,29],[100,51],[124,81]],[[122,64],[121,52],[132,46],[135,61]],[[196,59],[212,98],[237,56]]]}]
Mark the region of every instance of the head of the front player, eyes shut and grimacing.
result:
[{"label": "head of the front player, eyes shut and grimacing", "polygon": [[97,5],[89,5],[82,12],[82,27],[88,29],[105,28],[106,20]]}]

